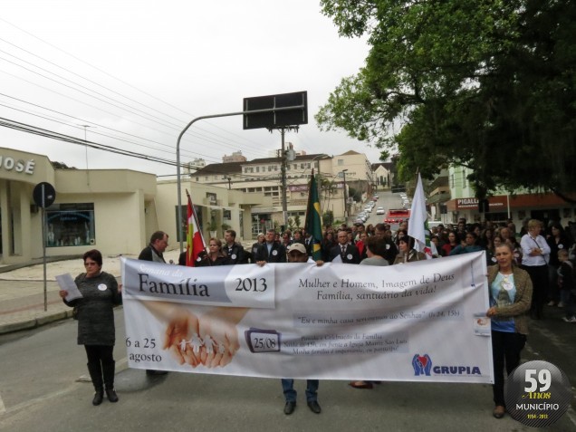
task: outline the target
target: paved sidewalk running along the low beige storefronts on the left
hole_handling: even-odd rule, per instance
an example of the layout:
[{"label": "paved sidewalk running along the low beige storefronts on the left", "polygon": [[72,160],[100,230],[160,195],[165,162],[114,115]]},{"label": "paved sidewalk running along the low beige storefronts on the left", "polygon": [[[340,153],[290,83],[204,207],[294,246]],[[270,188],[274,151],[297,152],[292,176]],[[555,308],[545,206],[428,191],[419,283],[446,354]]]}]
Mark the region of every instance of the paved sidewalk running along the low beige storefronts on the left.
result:
[{"label": "paved sidewalk running along the low beige storefronts on the left", "polygon": [[[178,263],[178,249],[164,254],[166,261]],[[127,258],[137,256],[124,255]],[[120,278],[120,256],[104,256],[102,270]],[[26,329],[72,318],[72,308],[66,306],[58,291],[55,277],[84,271],[82,258],[46,264],[46,310],[44,311],[43,264],[34,264],[8,272],[0,267],[0,334]]]}]

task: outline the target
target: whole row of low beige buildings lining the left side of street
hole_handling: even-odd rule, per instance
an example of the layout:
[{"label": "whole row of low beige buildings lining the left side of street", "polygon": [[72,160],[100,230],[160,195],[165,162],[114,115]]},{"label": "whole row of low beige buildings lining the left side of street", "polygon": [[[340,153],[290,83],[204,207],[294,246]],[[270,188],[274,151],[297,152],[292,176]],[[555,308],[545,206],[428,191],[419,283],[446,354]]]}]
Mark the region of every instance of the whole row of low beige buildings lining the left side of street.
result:
[{"label": "whole row of low beige buildings lining the left side of street", "polygon": [[[33,198],[41,182],[56,190],[53,205],[44,212]],[[187,204],[188,189],[205,236],[212,223],[219,237],[226,226],[234,227],[238,239],[251,237],[251,209],[264,203],[261,194],[189,180],[182,187],[182,204]],[[157,230],[168,233],[170,249],[178,247],[176,181],[157,182],[154,174],[130,169],[54,168],[43,155],[0,148],[0,264],[42,258],[43,213],[48,257],[78,256],[91,248],[137,256]]]}]

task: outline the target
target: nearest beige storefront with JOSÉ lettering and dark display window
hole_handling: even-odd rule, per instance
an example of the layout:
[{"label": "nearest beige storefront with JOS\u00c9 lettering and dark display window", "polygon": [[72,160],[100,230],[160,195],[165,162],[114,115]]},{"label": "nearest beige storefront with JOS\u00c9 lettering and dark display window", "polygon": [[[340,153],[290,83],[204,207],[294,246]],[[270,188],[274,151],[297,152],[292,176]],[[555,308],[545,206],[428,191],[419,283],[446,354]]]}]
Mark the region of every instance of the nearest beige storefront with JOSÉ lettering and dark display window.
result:
[{"label": "nearest beige storefront with JOS\u00c9 lettering and dark display window", "polygon": [[157,194],[156,176],[128,169],[55,169],[43,155],[0,149],[1,264],[43,256],[41,208],[34,187],[56,190],[45,209],[46,256],[78,255],[91,247],[103,254],[138,254],[146,244],[144,207]]}]

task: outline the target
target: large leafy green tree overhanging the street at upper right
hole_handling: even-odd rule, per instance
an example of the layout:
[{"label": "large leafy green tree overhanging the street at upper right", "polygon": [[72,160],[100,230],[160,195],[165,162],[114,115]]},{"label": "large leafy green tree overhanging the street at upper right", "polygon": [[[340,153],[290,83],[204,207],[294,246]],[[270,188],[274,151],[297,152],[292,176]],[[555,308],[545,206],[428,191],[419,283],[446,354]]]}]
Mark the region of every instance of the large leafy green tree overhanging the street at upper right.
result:
[{"label": "large leafy green tree overhanging the street at upper right", "polygon": [[[576,2],[322,0],[343,36],[368,37],[357,75],[316,115],[324,130],[398,149],[398,180],[472,168],[476,195],[576,174]],[[402,125],[398,128],[398,125]]]}]

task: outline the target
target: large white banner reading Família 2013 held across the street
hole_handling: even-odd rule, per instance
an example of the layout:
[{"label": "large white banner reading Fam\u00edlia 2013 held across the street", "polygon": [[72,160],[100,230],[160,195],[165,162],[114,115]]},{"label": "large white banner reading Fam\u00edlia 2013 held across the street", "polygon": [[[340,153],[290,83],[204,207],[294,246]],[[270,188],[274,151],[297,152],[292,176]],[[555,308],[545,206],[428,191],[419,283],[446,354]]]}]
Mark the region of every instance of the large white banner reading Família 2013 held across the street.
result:
[{"label": "large white banner reading Fam\u00edlia 2013 held across the street", "polygon": [[484,253],[375,267],[122,259],[131,368],[492,383]]}]

